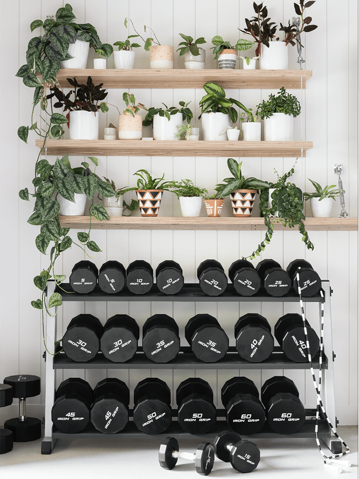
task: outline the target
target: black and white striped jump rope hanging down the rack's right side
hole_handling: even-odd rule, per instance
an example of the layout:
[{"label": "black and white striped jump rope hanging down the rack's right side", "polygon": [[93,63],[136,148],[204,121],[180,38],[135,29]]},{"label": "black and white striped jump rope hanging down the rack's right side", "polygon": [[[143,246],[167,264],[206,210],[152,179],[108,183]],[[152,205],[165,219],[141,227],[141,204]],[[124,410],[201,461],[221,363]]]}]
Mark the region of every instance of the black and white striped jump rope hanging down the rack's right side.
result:
[{"label": "black and white striped jump rope hanging down the rack's right side", "polygon": [[[351,466],[350,461],[337,461],[337,458],[340,458],[340,457],[345,456],[346,454],[350,453],[350,448],[346,445],[346,443],[343,441],[343,439],[338,435],[338,433],[336,431],[336,428],[331,423],[331,421],[330,421],[330,419],[329,419],[329,417],[328,417],[328,415],[325,411],[323,401],[322,401],[322,398],[321,398],[321,395],[320,395],[320,390],[321,390],[321,386],[322,386],[322,364],[323,364],[322,361],[323,361],[323,346],[324,346],[324,344],[323,344],[323,336],[324,336],[324,295],[323,295],[323,291],[321,290],[320,291],[320,295],[321,295],[321,324],[320,324],[319,381],[318,381],[318,385],[317,385],[315,374],[314,374],[313,363],[312,363],[312,356],[310,354],[308,332],[307,332],[307,327],[306,327],[306,324],[305,324],[304,306],[303,306],[301,288],[300,288],[300,285],[299,285],[299,271],[297,271],[296,279],[297,279],[297,283],[298,283],[300,311],[301,311],[303,325],[304,325],[306,347],[307,347],[307,350],[308,350],[308,361],[309,361],[309,365],[310,365],[310,371],[312,373],[312,379],[313,379],[315,392],[317,394],[317,411],[316,411],[316,416],[315,416],[315,439],[316,439],[316,442],[317,442],[318,449],[319,449],[321,455],[324,458],[324,464],[327,467],[329,467],[333,470],[336,470],[336,472],[341,473],[342,470],[340,468],[333,467],[328,463],[335,463],[335,464],[339,464],[341,466],[350,467]],[[340,442],[346,448],[346,451],[344,451],[343,453],[334,454],[332,456],[326,456],[324,454],[324,452],[322,450],[322,447],[320,445],[319,437],[318,437],[318,421],[319,421],[320,411],[322,411],[322,413],[323,413],[325,419],[327,420],[327,422],[329,424],[329,427],[332,430],[333,434],[340,440]]]}]

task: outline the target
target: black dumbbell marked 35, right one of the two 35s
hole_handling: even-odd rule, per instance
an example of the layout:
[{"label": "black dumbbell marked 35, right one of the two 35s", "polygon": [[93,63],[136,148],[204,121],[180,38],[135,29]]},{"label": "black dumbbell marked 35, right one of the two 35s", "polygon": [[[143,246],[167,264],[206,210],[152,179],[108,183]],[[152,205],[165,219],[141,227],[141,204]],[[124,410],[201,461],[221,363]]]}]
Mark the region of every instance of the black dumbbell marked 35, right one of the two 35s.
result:
[{"label": "black dumbbell marked 35, right one of the two 35s", "polygon": [[197,359],[216,362],[228,351],[229,339],[216,318],[210,314],[196,314],[184,328],[184,336]]}]

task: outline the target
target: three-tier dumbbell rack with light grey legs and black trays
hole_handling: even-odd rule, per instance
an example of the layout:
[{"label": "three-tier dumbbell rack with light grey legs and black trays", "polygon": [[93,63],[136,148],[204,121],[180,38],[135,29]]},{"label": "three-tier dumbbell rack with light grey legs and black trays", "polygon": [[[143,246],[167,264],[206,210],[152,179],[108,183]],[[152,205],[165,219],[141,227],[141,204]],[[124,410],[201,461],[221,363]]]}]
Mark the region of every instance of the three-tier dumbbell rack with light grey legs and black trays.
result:
[{"label": "three-tier dumbbell rack with light grey legs and black trays", "polygon": [[[285,296],[274,298],[269,296],[264,290],[260,290],[254,296],[238,296],[232,285],[228,285],[226,291],[220,296],[207,296],[200,289],[198,284],[185,284],[182,290],[175,296],[164,295],[160,293],[156,286],[146,295],[133,295],[129,293],[126,288],[116,295],[104,294],[98,286],[90,294],[81,295],[71,292],[72,289],[68,283],[61,285],[63,289],[60,290],[55,287],[54,281],[48,281],[47,296],[50,297],[53,292],[60,292],[63,301],[203,301],[203,302],[292,302],[298,304],[299,297],[293,289]],[[324,292],[324,351],[326,355],[323,358],[323,379],[322,379],[322,398],[325,409],[329,418],[336,421],[335,402],[334,402],[334,353],[332,344],[332,318],[331,318],[331,293],[329,281],[322,281],[322,289]],[[71,292],[71,294],[69,294]],[[314,302],[319,304],[319,317],[321,313],[321,296],[317,294],[311,298],[303,298],[304,302]],[[46,344],[50,353],[54,353],[56,341],[57,315],[46,317]],[[51,409],[54,404],[54,391],[56,386],[56,370],[57,369],[309,369],[309,363],[294,363],[287,359],[284,354],[275,348],[273,354],[268,360],[262,363],[250,363],[241,359],[234,347],[230,348],[226,356],[216,363],[204,363],[195,358],[191,353],[189,347],[181,347],[178,357],[169,363],[155,363],[147,359],[139,347],[138,352],[128,362],[118,363],[111,362],[98,353],[96,357],[89,362],[74,362],[68,359],[64,353],[58,353],[55,356],[49,357],[44,355],[46,361],[46,386],[45,386],[45,435],[41,443],[41,454],[51,454],[57,439],[159,439],[168,435],[173,435],[180,439],[198,438],[203,439],[203,435],[192,435],[184,432],[177,421],[173,421],[170,428],[162,434],[147,435],[137,430],[133,421],[130,421],[126,427],[116,434],[102,434],[95,430],[92,424],[77,434],[66,434],[57,430],[51,420]],[[46,360],[47,359],[47,360]],[[319,369],[319,359],[313,360],[313,366],[316,370]],[[177,411],[173,410],[173,417],[177,417]],[[130,416],[132,411],[130,410]],[[307,419],[303,427],[294,434],[282,435],[274,433],[265,424],[259,433],[251,436],[243,436],[243,438],[315,438],[314,424],[315,410],[306,409],[306,416],[311,417]],[[212,431],[208,433],[208,437],[212,438],[224,429],[229,429],[225,421],[225,410],[217,409],[217,422]],[[319,421],[319,437],[327,444],[332,452],[338,453],[341,451],[341,443],[331,436],[331,431],[326,420]]]}]

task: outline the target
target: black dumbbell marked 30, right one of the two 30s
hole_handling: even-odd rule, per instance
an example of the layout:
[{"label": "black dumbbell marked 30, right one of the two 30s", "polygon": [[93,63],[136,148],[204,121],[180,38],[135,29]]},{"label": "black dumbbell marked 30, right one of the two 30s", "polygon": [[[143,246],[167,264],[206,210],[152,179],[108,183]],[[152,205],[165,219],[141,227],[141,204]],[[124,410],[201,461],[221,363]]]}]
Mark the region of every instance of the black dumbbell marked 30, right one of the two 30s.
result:
[{"label": "black dumbbell marked 30, right one of the two 30s", "polygon": [[126,362],[137,351],[140,328],[127,314],[115,314],[109,318],[100,339],[103,356],[112,362]]}]

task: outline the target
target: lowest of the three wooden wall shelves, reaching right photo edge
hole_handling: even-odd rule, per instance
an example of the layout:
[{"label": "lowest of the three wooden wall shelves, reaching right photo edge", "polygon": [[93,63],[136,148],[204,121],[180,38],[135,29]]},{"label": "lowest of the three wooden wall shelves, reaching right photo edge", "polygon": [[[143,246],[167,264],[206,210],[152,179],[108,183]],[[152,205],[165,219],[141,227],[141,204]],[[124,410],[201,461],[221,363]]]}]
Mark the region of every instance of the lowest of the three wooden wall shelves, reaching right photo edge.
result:
[{"label": "lowest of the three wooden wall shelves, reaching right photo edge", "polygon": [[[90,228],[90,216],[60,216],[62,228],[86,230]],[[306,218],[308,231],[358,231],[358,218]],[[109,221],[91,220],[95,230],[215,230],[215,231],[266,231],[263,218],[174,218],[174,217],[115,217]],[[297,231],[274,223],[274,230]]]}]

